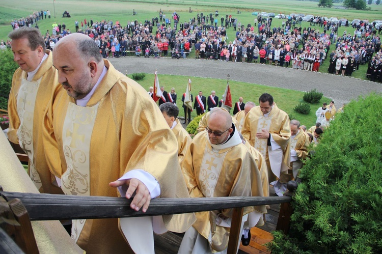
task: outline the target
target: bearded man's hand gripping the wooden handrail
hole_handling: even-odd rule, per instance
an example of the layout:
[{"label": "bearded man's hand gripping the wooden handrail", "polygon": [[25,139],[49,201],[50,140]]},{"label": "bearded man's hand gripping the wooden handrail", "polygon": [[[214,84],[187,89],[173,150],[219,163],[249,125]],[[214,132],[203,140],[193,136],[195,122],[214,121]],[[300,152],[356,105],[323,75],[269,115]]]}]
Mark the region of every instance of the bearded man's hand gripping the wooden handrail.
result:
[{"label": "bearded man's hand gripping the wooden handrail", "polygon": [[126,191],[126,199],[130,199],[131,195],[136,190],[134,199],[132,200],[130,207],[131,209],[134,209],[135,211],[139,211],[142,207],[142,212],[146,212],[147,208],[150,205],[150,192],[147,189],[146,185],[138,180],[137,178],[131,178],[128,180],[117,180],[114,182],[109,183],[111,187],[119,187],[122,185],[128,185],[128,189]]}]

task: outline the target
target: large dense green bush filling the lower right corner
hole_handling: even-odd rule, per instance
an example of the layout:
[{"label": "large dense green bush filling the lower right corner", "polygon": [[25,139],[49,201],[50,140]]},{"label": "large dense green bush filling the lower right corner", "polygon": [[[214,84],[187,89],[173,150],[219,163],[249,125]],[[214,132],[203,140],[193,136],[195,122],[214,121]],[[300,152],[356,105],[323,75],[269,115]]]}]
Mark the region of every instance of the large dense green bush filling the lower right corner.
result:
[{"label": "large dense green bush filling the lower right corner", "polygon": [[306,161],[272,253],[382,253],[382,97],[349,103]]}]

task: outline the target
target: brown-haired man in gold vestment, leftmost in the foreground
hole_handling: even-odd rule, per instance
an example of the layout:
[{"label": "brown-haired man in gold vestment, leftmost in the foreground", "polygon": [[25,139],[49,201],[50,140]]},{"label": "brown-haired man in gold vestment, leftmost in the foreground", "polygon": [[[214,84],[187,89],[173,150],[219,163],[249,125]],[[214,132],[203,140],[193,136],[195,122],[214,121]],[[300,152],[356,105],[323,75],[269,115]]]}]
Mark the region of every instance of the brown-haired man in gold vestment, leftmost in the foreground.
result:
[{"label": "brown-haired man in gold vestment, leftmost in the foreground", "polygon": [[9,34],[14,60],[19,67],[12,78],[8,100],[8,138],[20,144],[28,155],[28,172],[40,192],[63,194],[52,184],[42,146],[42,120],[45,108],[58,86],[52,52],[45,49],[38,29],[21,27]]}]

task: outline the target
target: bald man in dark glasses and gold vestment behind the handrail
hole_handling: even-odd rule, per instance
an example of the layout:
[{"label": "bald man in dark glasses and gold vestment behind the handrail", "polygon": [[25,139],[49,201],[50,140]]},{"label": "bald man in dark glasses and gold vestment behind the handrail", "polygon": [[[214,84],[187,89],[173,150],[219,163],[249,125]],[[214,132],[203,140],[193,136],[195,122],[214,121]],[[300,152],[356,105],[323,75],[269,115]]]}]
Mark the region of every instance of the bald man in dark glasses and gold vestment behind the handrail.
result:
[{"label": "bald man in dark glasses and gold vestment behind the handrail", "polygon": [[[190,197],[263,196],[256,160],[224,109],[210,111],[206,130],[194,137],[181,166]],[[245,208],[241,227],[248,218],[253,227],[264,213],[265,206]],[[232,210],[198,212],[196,216],[178,253],[226,253]]]}]

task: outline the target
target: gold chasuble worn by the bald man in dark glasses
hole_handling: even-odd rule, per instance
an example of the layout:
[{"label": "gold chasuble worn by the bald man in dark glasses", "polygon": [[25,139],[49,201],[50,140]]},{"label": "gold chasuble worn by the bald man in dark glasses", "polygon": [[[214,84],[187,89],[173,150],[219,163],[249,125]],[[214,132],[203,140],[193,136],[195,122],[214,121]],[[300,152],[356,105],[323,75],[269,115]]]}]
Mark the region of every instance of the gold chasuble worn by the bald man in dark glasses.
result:
[{"label": "gold chasuble worn by the bald man in dark glasses", "polygon": [[[236,128],[231,138],[221,145],[212,145],[206,131],[198,133],[181,166],[190,197],[263,196],[255,158],[242,144]],[[259,214],[257,220],[266,213],[265,206],[258,206],[245,208],[243,214],[255,210]],[[226,249],[232,209],[198,212],[196,217],[193,227],[208,240],[212,251]],[[193,248],[195,250],[197,245]]]}]

